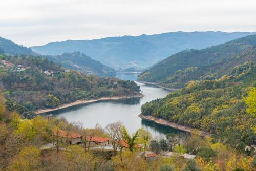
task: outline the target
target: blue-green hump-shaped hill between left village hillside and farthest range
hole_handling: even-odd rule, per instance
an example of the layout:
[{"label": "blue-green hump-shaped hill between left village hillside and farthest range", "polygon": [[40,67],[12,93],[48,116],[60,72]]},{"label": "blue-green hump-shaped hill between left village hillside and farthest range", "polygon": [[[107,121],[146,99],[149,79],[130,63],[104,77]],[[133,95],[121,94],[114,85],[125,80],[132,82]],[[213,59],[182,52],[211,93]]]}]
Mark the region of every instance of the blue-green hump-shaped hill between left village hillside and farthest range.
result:
[{"label": "blue-green hump-shaped hill between left village hillside and farthest range", "polygon": [[111,76],[116,74],[113,68],[107,67],[99,61],[96,61],[80,52],[63,53],[62,55],[56,56],[48,55],[45,57],[49,60],[60,63],[63,67],[74,69],[86,74],[99,76]]}]

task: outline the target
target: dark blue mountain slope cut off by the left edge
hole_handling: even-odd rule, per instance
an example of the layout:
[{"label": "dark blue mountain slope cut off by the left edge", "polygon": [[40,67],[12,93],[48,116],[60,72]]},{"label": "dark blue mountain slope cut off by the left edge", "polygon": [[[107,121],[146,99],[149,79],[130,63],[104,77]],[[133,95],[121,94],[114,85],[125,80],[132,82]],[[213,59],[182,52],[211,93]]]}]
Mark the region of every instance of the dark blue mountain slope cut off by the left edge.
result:
[{"label": "dark blue mountain slope cut off by the left edge", "polygon": [[30,48],[22,45],[17,45],[11,40],[0,37],[0,54],[7,53],[10,55],[15,54],[35,54]]}]

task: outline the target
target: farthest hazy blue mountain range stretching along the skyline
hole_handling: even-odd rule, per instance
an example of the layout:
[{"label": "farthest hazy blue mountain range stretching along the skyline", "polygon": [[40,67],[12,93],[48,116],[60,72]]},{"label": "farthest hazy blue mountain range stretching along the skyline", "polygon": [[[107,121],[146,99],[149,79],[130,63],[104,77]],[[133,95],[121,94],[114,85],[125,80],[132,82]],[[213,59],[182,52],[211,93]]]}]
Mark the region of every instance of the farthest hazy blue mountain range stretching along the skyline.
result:
[{"label": "farthest hazy blue mountain range stretching along the skyline", "polygon": [[44,55],[80,51],[104,65],[118,68],[148,67],[185,49],[203,49],[251,35],[249,32],[170,32],[155,35],[107,37],[51,42],[31,49]]}]

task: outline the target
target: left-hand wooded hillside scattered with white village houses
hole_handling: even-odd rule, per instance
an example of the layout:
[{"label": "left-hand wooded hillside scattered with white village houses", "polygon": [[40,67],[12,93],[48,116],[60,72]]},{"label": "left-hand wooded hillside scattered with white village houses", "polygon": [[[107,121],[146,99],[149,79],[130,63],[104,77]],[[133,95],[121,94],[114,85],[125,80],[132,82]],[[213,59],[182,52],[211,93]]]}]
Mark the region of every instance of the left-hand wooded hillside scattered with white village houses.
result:
[{"label": "left-hand wooded hillside scattered with white village houses", "polygon": [[138,95],[135,82],[102,78],[67,70],[53,61],[35,56],[7,56],[0,60],[3,94],[10,108],[54,108],[79,99]]}]

